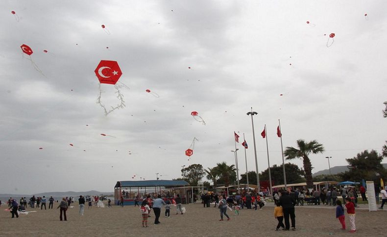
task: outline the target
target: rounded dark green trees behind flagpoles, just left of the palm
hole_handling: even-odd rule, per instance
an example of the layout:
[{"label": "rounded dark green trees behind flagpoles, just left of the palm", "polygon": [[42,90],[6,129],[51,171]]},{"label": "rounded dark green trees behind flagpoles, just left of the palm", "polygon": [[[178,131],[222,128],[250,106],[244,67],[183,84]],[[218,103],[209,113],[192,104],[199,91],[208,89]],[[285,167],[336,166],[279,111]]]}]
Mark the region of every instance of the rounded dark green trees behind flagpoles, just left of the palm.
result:
[{"label": "rounded dark green trees behind flagpoles, just left of the palm", "polygon": [[[286,181],[289,184],[294,183],[302,183],[305,182],[303,176],[305,172],[300,169],[297,165],[286,163],[285,164],[285,172],[286,172]],[[273,181],[273,185],[284,184],[284,169],[283,165],[277,166],[273,165],[270,167],[271,181]],[[260,180],[269,180],[269,169],[267,168],[265,171],[261,172],[259,175]]]}]

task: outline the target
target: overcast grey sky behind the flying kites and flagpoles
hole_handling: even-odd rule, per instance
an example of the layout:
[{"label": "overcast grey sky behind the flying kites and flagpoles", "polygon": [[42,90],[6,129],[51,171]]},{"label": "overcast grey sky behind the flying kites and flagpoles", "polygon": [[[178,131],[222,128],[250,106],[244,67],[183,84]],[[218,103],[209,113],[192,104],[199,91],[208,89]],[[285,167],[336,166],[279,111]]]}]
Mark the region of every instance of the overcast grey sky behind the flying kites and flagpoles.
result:
[{"label": "overcast grey sky behind the flying kites and flagpoles", "polygon": [[[0,193],[112,192],[133,175],[231,165],[234,130],[253,171],[250,107],[260,172],[265,124],[270,165],[282,163],[278,119],[284,149],[300,138],[324,145],[310,156],[313,172],[328,169],[325,156],[346,165],[385,143],[385,0],[8,0],[0,9]],[[128,86],[126,107],[108,116],[96,103],[100,60],[117,61]],[[107,108],[119,103],[113,85],[101,89]]]}]

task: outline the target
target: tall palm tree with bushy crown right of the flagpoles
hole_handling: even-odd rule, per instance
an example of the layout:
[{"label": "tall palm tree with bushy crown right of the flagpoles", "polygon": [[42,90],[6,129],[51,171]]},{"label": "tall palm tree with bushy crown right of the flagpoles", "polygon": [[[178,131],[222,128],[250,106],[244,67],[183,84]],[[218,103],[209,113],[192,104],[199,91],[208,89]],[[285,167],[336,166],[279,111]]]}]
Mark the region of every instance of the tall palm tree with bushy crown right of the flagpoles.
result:
[{"label": "tall palm tree with bushy crown right of the flagpoles", "polygon": [[299,149],[293,147],[287,147],[284,151],[284,155],[287,160],[294,158],[302,158],[304,163],[305,179],[306,186],[308,188],[313,188],[313,177],[312,177],[312,163],[308,155],[312,152],[314,154],[324,152],[324,147],[322,144],[319,144],[316,140],[305,143],[305,140],[297,140],[297,146]]}]

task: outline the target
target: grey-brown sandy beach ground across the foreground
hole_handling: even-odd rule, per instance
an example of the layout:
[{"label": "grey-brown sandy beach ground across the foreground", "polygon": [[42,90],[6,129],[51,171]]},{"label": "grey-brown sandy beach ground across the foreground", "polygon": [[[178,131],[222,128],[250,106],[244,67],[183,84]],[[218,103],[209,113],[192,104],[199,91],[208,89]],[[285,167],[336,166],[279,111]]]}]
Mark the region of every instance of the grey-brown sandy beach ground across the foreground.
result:
[{"label": "grey-brown sandy beach ground across the foreground", "polygon": [[[273,217],[273,204],[263,210],[243,209],[240,215],[228,211],[230,221],[219,221],[217,208],[203,208],[201,204],[184,205],[187,213],[164,217],[162,209],[160,225],[154,225],[154,214],[149,218],[149,227],[141,227],[141,213],[138,207],[113,206],[112,208],[85,209],[78,215],[78,205],[69,208],[68,221],[59,221],[59,210],[34,209],[36,213],[11,218],[1,205],[0,236],[234,236],[237,233],[253,236],[319,237],[348,236],[349,218],[346,215],[347,231],[339,230],[334,207],[296,207],[296,231],[274,231],[277,221]],[[57,204],[54,208],[57,207]],[[387,219],[386,211],[369,212],[366,206],[356,211],[357,233],[355,236],[381,236],[385,233],[382,220]],[[28,208],[27,211],[32,209]]]}]

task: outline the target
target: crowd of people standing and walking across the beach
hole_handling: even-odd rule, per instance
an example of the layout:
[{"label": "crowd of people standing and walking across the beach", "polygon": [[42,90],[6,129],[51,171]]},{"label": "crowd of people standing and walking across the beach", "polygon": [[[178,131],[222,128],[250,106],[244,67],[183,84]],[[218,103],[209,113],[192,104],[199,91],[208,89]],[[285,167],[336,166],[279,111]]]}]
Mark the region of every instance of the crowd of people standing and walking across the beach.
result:
[{"label": "crowd of people standing and walking across the beach", "polygon": [[[382,194],[382,205],[380,209],[383,209],[385,203],[387,203],[387,191],[385,187],[380,187],[380,194]],[[365,192],[363,186],[360,188],[360,193],[362,195],[363,200],[366,200]],[[342,198],[342,201],[340,200]],[[337,205],[336,207],[336,218],[339,219],[341,224],[341,229],[345,230],[345,215],[344,208],[342,204],[345,204],[347,215],[349,216],[350,225],[351,225],[351,233],[356,232],[355,225],[355,208],[357,207],[357,198],[358,194],[356,188],[344,186],[341,189],[337,189],[335,187],[331,187],[329,189],[323,188],[321,191],[312,190],[309,191],[307,189],[289,189],[289,191],[274,191],[273,199],[275,203],[274,208],[274,217],[277,219],[278,224],[275,228],[276,231],[280,230],[296,230],[295,227],[295,206],[303,206],[304,200],[307,198],[312,198],[311,200],[315,205]],[[194,198],[195,199],[195,198]],[[224,216],[227,217],[227,220],[231,220],[231,217],[227,214],[227,210],[234,210],[235,215],[239,215],[239,211],[243,208],[246,209],[262,209],[265,206],[266,194],[263,192],[248,192],[242,191],[241,193],[229,194],[225,193],[216,194],[213,192],[207,192],[206,194],[201,195],[203,207],[207,208],[211,206],[211,203],[214,204],[215,208],[218,208],[220,211],[220,219],[219,221],[223,221]],[[15,216],[18,218],[20,212],[25,212],[27,205],[29,208],[41,208],[45,207],[46,203],[49,202],[48,209],[52,209],[54,198],[51,196],[50,198],[43,197],[35,197],[32,196],[29,199],[29,202],[26,201],[25,197],[20,199],[20,203],[17,202],[16,199],[10,198],[8,200],[9,211],[12,215],[12,218]],[[92,207],[92,202],[95,202],[97,207],[103,207],[102,200],[106,200],[104,197],[98,196],[79,196],[78,204],[79,204],[79,215],[84,214],[85,203],[89,203],[89,208]],[[148,227],[148,217],[150,216],[150,212],[153,209],[154,213],[154,224],[160,224],[160,215],[161,209],[165,208],[165,217],[170,217],[171,206],[174,205],[176,207],[176,215],[183,215],[185,213],[185,208],[182,207],[182,198],[179,194],[175,197],[171,197],[169,194],[164,195],[164,199],[161,194],[151,194],[135,197],[135,207],[139,206],[142,214],[142,226]],[[58,200],[56,201],[58,202]],[[60,220],[67,220],[66,211],[71,204],[73,203],[73,197],[63,197],[61,202],[59,203],[57,209],[60,209]],[[141,206],[139,205],[141,203]],[[1,205],[1,204],[0,204]],[[121,196],[120,201],[121,207],[123,207],[123,196]],[[111,200],[108,199],[108,207],[111,207]],[[62,218],[63,215],[63,218]],[[283,223],[285,221],[285,224]]]}]

